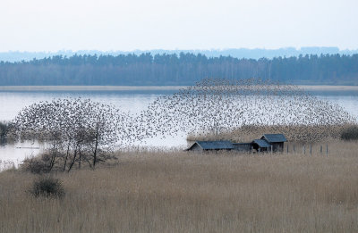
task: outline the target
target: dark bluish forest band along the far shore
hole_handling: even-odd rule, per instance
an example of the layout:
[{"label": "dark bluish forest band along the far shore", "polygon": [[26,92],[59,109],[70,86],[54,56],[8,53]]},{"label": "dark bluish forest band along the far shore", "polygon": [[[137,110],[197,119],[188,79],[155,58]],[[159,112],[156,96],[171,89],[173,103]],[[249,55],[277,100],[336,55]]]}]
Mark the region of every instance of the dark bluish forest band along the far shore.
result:
[{"label": "dark bluish forest band along the far shore", "polygon": [[238,59],[204,54],[55,55],[0,62],[1,86],[192,85],[203,78],[277,80],[290,84],[358,85],[358,54],[306,54]]}]

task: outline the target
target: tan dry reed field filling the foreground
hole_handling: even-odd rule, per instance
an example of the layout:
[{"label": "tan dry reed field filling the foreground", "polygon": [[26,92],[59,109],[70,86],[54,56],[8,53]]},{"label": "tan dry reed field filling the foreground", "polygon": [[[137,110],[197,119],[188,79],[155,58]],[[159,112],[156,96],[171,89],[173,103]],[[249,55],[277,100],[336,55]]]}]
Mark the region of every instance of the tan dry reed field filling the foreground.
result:
[{"label": "tan dry reed field filling the foreground", "polygon": [[0,232],[357,232],[358,145],[325,154],[119,154],[55,175],[62,200],[0,173]]}]

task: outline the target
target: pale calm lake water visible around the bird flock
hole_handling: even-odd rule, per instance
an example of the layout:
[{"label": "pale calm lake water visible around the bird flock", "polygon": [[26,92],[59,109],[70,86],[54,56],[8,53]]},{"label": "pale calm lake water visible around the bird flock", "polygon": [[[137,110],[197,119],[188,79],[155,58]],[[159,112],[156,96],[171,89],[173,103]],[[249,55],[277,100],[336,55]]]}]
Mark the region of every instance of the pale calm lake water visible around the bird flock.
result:
[{"label": "pale calm lake water visible around the bird flock", "polygon": [[[0,121],[12,121],[25,106],[54,98],[82,97],[99,103],[112,104],[124,112],[138,113],[145,110],[158,96],[170,95],[176,90],[139,91],[0,91]],[[311,91],[313,96],[339,104],[358,120],[358,91]],[[185,136],[166,139],[152,138],[147,146],[186,146]],[[21,147],[21,148],[19,148]],[[38,149],[39,148],[39,149]],[[1,161],[21,162],[25,156],[38,154],[41,145],[25,142],[14,146],[0,146]],[[1,167],[0,167],[1,169]]]}]

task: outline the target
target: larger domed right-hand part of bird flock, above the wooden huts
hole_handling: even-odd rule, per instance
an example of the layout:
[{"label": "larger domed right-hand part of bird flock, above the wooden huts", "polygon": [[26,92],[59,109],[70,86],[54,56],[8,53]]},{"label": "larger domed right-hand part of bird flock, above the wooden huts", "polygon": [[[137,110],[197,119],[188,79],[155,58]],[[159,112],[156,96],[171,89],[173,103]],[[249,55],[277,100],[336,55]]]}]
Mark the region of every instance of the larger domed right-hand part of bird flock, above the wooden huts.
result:
[{"label": "larger domed right-hand part of bird flock, above the wooden huts", "polygon": [[[262,79],[203,79],[171,96],[159,96],[135,118],[135,137],[222,134],[250,126],[329,128],[354,122],[337,105],[293,85]],[[307,136],[307,130],[299,132]],[[306,139],[309,139],[308,137]]]}]

